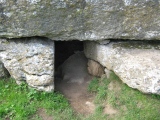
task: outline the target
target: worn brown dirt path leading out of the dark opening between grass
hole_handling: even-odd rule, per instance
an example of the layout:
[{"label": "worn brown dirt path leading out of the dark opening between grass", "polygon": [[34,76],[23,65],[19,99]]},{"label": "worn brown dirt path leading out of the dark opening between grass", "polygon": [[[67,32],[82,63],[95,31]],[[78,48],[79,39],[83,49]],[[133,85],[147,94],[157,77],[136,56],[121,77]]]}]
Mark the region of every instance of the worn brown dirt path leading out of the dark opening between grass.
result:
[{"label": "worn brown dirt path leading out of the dark opening between grass", "polygon": [[55,89],[60,91],[69,100],[75,112],[88,115],[95,110],[95,105],[93,104],[94,95],[87,91],[91,80],[92,77],[86,78],[81,83],[68,83],[59,80],[56,81]]}]

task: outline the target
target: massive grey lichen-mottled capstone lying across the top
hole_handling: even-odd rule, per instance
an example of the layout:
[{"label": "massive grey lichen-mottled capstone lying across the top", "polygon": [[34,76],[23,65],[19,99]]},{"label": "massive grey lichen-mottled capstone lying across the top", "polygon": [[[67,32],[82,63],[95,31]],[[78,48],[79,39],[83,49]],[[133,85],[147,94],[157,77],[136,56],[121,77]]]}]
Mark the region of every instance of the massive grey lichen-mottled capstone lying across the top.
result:
[{"label": "massive grey lichen-mottled capstone lying across the top", "polygon": [[160,40],[159,0],[0,0],[0,37]]}]

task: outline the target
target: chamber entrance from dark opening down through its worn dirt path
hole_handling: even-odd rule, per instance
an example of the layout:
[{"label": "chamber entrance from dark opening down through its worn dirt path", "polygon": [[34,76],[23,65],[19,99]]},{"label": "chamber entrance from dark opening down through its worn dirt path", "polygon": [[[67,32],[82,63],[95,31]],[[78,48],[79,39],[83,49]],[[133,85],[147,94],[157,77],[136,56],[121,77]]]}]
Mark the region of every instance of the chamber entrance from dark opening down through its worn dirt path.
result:
[{"label": "chamber entrance from dark opening down through its worn dirt path", "polygon": [[73,109],[82,114],[93,113],[95,109],[93,95],[87,91],[92,80],[87,62],[82,41],[55,42],[55,91],[62,93]]}]

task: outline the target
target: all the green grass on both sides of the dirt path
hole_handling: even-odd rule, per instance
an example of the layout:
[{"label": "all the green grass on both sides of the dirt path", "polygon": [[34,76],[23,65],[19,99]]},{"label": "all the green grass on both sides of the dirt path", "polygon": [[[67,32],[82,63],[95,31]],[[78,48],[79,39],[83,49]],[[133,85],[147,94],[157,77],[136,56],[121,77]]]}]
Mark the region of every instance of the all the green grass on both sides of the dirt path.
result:
[{"label": "all the green grass on both sides of the dirt path", "polygon": [[[88,91],[95,94],[95,112],[88,116],[73,112],[68,100],[58,92],[38,92],[13,79],[0,80],[0,120],[42,120],[39,109],[54,120],[159,120],[160,95],[146,95],[122,83],[111,73],[110,78],[94,78]],[[116,114],[104,114],[110,105]]]}]

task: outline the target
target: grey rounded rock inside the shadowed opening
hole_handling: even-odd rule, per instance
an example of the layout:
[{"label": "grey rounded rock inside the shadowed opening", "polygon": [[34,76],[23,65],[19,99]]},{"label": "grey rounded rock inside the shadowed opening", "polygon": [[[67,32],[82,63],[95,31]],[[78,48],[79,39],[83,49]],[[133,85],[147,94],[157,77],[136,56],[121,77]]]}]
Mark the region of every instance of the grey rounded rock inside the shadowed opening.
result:
[{"label": "grey rounded rock inside the shadowed opening", "polygon": [[71,55],[60,67],[59,72],[64,82],[83,83],[90,77],[87,71],[87,58],[83,52]]}]

